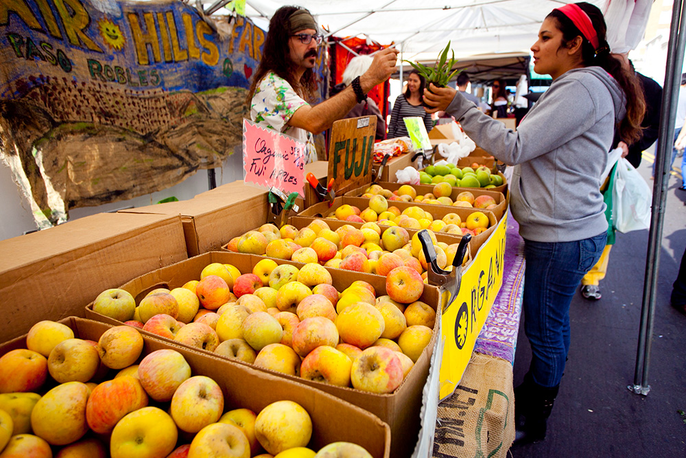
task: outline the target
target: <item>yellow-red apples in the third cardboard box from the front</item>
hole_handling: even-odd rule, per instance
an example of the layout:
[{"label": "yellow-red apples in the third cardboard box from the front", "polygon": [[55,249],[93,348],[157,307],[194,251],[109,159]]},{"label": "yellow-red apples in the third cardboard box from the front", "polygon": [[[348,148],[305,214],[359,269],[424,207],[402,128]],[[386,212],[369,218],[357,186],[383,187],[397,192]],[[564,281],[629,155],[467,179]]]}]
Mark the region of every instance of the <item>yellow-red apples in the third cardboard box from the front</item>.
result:
[{"label": "yellow-red apples in the third cardboard box from the front", "polygon": [[[408,214],[412,214],[412,209],[407,210]],[[336,211],[356,216],[355,211],[359,209],[344,204]],[[406,219],[414,220],[410,216]],[[486,230],[483,228],[484,222],[488,225],[488,217],[485,214],[482,214],[482,217],[477,215],[473,220],[469,220],[469,225],[465,222],[466,227],[463,228],[460,216],[451,213],[442,220],[434,220],[429,224],[427,231],[434,242],[434,249],[436,253],[441,253],[438,261],[441,268],[452,264],[458,242],[438,242],[434,230],[458,236],[468,232],[476,235]],[[482,226],[475,230],[469,229],[477,223]],[[404,265],[413,268],[423,279],[427,277],[426,257],[417,234],[410,238],[410,233],[399,226],[382,231],[376,222],[365,222],[359,229],[353,225],[343,225],[335,231],[331,230],[326,220],[321,219],[313,220],[307,227],[299,230],[293,225],[277,229],[272,224],[265,224],[255,231],[248,231],[233,238],[227,247],[229,251],[236,253],[266,255],[303,264],[318,263],[325,267],[373,273],[384,277],[393,268]]]}]

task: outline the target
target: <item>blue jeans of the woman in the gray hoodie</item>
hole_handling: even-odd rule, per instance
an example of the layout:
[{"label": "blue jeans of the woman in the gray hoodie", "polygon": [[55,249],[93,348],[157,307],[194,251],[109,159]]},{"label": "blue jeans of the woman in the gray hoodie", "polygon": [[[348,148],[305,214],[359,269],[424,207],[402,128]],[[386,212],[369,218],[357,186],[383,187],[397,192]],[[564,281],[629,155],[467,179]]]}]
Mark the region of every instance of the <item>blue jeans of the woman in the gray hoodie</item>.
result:
[{"label": "blue jeans of the woman in the gray hoodie", "polygon": [[560,384],[569,353],[569,304],[598,262],[607,232],[575,242],[524,240],[524,331],[532,351],[530,375],[543,387]]}]

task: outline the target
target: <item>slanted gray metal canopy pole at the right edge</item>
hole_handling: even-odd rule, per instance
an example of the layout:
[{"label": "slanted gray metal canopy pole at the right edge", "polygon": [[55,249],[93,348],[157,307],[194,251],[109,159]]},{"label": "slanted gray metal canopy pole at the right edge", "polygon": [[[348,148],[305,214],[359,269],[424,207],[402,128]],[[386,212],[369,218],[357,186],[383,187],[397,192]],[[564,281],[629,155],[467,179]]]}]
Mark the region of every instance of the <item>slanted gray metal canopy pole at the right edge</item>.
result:
[{"label": "slanted gray metal canopy pole at the right edge", "polygon": [[667,49],[667,67],[665,84],[662,91],[661,122],[655,154],[655,176],[652,191],[652,216],[648,234],[648,253],[646,255],[646,275],[643,280],[643,305],[639,342],[636,354],[634,383],[628,389],[636,394],[648,396],[648,367],[650,365],[650,347],[652,345],[652,328],[655,314],[655,292],[657,291],[657,273],[660,262],[660,247],[667,201],[667,186],[670,179],[670,161],[674,148],[674,120],[681,83],[684,49],[686,45],[686,10],[683,0],[674,1],[672,5],[672,24],[670,25],[669,47]]}]

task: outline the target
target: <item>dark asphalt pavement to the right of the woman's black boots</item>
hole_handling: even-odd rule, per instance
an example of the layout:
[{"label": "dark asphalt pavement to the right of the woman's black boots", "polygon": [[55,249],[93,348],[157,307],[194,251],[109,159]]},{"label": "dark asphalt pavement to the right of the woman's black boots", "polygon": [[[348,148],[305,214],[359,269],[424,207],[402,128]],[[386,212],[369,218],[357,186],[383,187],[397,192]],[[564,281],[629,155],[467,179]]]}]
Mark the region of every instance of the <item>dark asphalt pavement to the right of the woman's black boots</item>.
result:
[{"label": "dark asphalt pavement to the right of the woman's black boots", "polygon": [[[650,180],[654,156],[643,153],[639,172]],[[514,458],[686,457],[686,316],[670,306],[672,283],[686,249],[686,192],[681,157],[670,176],[661,244],[650,392],[632,393],[646,272],[648,230],[617,233],[602,298],[580,294],[571,308],[571,348],[560,393],[543,442],[510,449]],[[675,170],[676,169],[676,170]],[[523,323],[523,321],[522,321]],[[520,326],[514,386],[530,363]]]}]

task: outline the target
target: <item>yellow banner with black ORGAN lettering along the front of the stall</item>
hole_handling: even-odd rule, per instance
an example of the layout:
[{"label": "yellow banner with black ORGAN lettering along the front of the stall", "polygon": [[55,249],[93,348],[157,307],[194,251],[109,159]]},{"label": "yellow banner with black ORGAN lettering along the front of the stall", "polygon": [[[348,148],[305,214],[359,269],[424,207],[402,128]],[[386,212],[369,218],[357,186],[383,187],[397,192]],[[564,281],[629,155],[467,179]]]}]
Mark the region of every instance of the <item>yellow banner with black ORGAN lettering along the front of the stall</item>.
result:
[{"label": "yellow banner with black ORGAN lettering along the front of the stall", "polygon": [[503,284],[508,214],[504,214],[474,261],[462,273],[457,299],[443,310],[441,327],[445,347],[440,365],[439,400],[451,396],[460,383],[476,338]]}]

